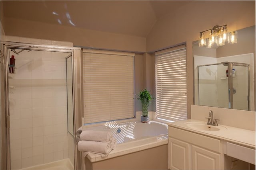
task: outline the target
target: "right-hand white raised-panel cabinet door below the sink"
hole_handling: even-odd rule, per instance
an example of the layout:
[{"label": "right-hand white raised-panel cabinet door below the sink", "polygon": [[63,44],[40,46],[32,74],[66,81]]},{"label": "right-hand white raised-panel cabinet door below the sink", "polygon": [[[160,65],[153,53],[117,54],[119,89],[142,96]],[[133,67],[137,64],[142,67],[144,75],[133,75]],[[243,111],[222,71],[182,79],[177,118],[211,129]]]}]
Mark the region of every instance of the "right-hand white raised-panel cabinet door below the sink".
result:
[{"label": "right-hand white raised-panel cabinet door below the sink", "polygon": [[220,154],[192,145],[193,170],[220,170]]}]

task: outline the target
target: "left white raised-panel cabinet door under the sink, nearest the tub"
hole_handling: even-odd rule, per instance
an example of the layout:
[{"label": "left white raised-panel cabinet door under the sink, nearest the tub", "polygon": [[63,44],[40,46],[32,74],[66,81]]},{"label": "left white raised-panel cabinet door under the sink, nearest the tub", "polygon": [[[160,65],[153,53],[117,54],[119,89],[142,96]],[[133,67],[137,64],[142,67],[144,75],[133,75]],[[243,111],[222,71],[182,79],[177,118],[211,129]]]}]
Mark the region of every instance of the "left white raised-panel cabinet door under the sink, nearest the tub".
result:
[{"label": "left white raised-panel cabinet door under the sink, nearest the tub", "polygon": [[171,170],[188,170],[190,145],[169,137],[168,162]]}]

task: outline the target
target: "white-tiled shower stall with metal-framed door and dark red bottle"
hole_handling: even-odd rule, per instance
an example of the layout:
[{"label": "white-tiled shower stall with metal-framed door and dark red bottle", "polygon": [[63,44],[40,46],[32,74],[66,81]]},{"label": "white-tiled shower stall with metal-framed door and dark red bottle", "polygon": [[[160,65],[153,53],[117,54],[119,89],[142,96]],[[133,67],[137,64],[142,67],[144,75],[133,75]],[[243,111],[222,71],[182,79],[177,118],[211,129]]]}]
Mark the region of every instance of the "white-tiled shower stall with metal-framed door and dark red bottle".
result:
[{"label": "white-tiled shower stall with metal-framed door and dark red bottle", "polygon": [[1,43],[1,169],[77,168],[77,51]]}]

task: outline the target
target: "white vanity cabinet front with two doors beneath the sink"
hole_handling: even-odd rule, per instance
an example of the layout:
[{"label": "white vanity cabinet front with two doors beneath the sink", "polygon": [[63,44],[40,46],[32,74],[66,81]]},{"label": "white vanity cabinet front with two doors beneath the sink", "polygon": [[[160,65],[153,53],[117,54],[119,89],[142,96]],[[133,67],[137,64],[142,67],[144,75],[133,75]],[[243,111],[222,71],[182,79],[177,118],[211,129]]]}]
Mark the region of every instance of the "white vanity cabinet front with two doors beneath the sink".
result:
[{"label": "white vanity cabinet front with two doors beneath the sink", "polygon": [[222,169],[219,139],[170,126],[168,129],[169,169]]}]

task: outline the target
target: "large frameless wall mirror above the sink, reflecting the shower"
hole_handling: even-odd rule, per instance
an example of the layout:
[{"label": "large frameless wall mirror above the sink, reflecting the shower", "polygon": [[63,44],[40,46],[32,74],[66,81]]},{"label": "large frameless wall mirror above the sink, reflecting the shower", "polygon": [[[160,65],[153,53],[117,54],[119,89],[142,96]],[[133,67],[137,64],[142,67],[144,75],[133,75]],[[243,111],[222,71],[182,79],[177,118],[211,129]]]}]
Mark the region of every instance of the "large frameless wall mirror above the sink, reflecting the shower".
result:
[{"label": "large frameless wall mirror above the sink, reflecting the shower", "polygon": [[255,25],[237,32],[235,44],[193,42],[195,105],[255,111]]}]

